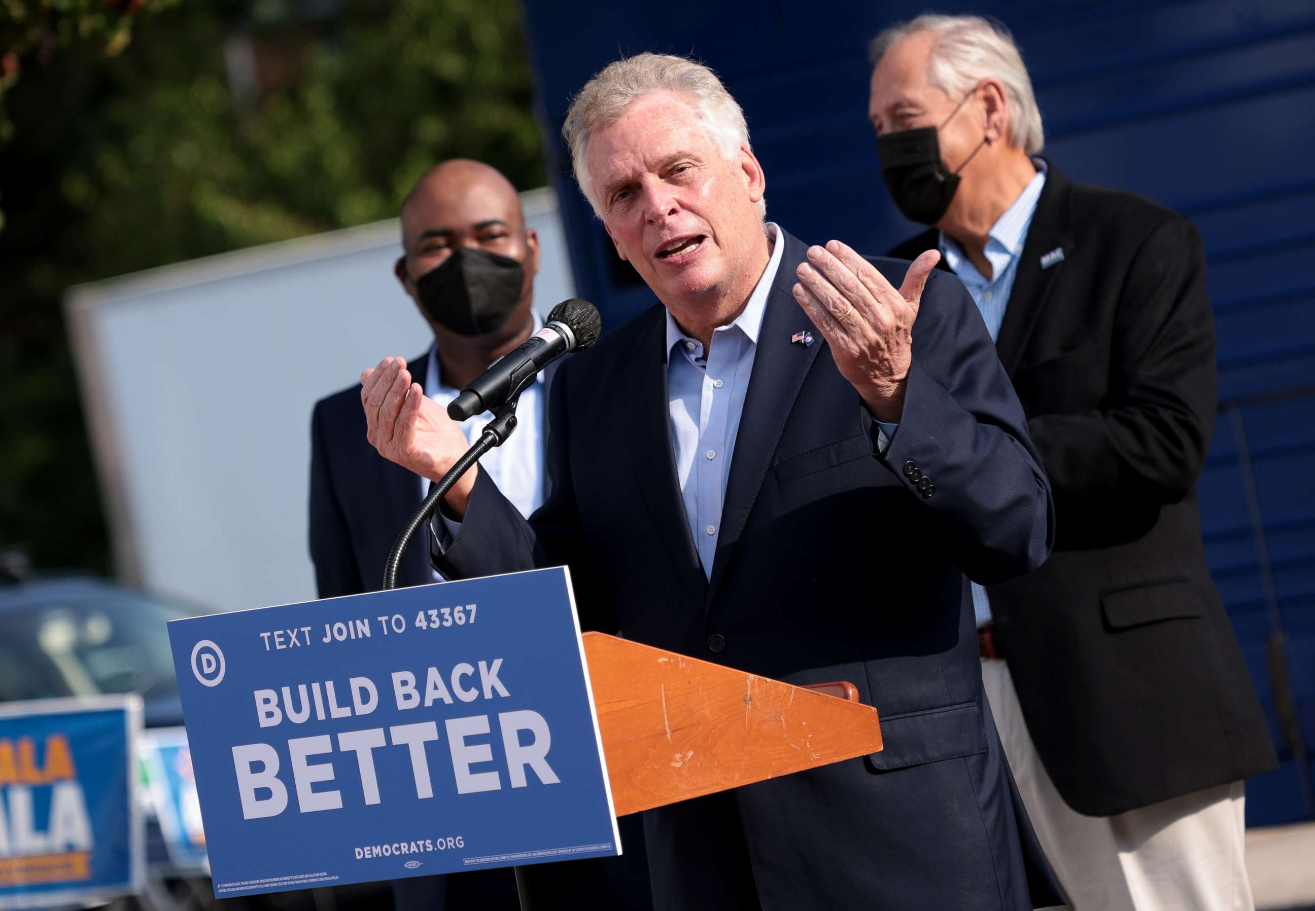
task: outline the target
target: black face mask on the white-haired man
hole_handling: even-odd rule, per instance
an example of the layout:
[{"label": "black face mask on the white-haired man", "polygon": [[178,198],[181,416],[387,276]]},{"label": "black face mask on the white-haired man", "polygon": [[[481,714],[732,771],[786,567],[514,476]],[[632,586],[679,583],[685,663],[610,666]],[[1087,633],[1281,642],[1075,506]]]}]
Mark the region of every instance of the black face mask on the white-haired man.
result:
[{"label": "black face mask on the white-haired man", "polygon": [[[967,101],[972,93],[964,97]],[[959,103],[959,108],[964,106]],[[949,117],[940,126],[923,126],[917,130],[903,130],[901,133],[884,133],[877,137],[877,154],[881,156],[881,176],[890,191],[905,218],[920,221],[924,225],[935,225],[949,209],[955,191],[959,189],[959,171],[968,167],[973,155],[981,150],[986,142],[977,143],[972,155],[968,156],[957,171],[949,171],[940,159],[940,129],[948,124],[955,114],[955,108]]]}]

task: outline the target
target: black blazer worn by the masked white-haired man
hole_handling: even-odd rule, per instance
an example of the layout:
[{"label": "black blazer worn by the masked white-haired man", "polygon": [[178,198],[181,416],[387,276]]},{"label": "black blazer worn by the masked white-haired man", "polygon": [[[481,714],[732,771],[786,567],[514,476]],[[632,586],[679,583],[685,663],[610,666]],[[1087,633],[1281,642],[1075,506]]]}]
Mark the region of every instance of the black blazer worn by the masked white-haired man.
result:
[{"label": "black blazer worn by the masked white-haired man", "polygon": [[[935,230],[893,252],[934,248]],[[1041,258],[1061,250],[1061,262]],[[1055,490],[1055,553],[989,588],[1047,772],[1110,815],[1277,765],[1201,543],[1215,421],[1201,237],[1051,166],[997,339]],[[1053,258],[1053,256],[1052,256]]]}]

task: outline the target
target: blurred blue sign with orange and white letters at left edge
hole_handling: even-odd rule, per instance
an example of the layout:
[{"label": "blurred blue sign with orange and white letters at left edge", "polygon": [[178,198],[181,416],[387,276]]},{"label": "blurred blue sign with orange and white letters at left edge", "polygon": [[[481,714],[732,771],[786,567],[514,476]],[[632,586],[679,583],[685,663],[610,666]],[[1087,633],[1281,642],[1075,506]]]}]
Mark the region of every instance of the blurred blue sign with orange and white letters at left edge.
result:
[{"label": "blurred blue sign with orange and white letters at left edge", "polygon": [[0,908],[141,890],[135,695],[0,705]]}]

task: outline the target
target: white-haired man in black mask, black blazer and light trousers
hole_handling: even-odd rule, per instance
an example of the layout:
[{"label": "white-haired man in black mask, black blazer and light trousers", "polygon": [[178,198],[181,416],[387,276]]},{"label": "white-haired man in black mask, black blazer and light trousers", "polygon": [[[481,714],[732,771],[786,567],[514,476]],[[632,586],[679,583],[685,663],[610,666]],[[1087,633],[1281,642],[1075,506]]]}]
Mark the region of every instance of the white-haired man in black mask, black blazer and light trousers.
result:
[{"label": "white-haired man in black mask, black blazer and light trousers", "polygon": [[968,287],[1027,411],[1059,534],[973,585],[982,676],[1077,911],[1252,907],[1241,780],[1276,765],[1215,593],[1195,482],[1215,417],[1197,230],[1039,158],[1010,34],[922,16],[872,45],[869,114],[903,213]]}]

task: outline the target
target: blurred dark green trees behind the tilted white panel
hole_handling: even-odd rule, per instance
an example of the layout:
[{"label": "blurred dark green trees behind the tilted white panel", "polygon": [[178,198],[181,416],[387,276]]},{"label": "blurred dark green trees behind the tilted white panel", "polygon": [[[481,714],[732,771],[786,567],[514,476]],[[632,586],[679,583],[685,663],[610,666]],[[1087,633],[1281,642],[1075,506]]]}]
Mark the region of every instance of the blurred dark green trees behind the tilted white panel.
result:
[{"label": "blurred dark green trees behind the tilted white panel", "polygon": [[515,0],[309,8],[188,0],[130,53],[55,54],[5,95],[0,547],[109,568],[64,288],[396,216],[455,155],[543,183]]}]

